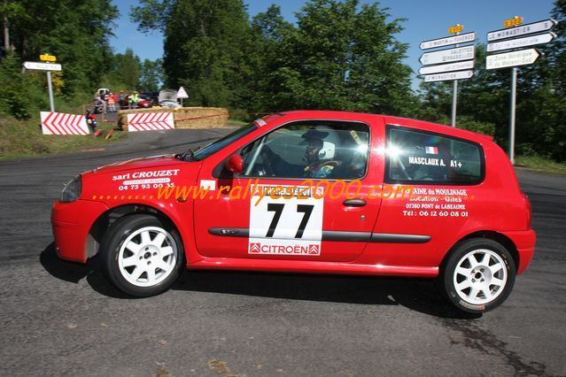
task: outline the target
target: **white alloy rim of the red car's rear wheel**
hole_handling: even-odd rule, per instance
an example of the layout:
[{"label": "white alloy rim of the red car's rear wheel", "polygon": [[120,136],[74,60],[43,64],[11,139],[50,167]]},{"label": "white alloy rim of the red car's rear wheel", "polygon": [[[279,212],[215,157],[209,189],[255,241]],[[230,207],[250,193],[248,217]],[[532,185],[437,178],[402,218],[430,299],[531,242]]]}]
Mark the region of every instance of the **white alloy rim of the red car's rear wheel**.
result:
[{"label": "white alloy rim of the red car's rear wheel", "polygon": [[469,251],[454,269],[456,294],[473,305],[491,303],[504,291],[507,281],[506,263],[492,250]]}]

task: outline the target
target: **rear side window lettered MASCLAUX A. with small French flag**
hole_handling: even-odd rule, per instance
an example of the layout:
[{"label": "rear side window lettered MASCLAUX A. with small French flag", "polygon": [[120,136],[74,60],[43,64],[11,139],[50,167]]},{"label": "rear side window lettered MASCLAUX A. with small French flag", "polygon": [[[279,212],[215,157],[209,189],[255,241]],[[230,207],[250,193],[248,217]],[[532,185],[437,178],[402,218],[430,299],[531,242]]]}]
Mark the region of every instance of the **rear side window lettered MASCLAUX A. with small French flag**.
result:
[{"label": "rear side window lettered MASCLAUX A. with small French flag", "polygon": [[407,127],[387,127],[387,183],[473,185],[484,180],[484,151],[476,142]]}]

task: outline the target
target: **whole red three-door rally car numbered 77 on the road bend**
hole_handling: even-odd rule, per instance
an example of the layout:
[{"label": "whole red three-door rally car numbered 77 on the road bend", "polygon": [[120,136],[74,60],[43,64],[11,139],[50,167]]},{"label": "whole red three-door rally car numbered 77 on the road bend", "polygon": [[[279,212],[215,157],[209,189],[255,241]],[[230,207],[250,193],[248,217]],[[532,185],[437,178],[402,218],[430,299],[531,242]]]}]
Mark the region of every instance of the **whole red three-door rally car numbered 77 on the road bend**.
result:
[{"label": "whole red three-door rally car numbered 77 on the road bend", "polygon": [[60,258],[97,255],[132,296],[183,265],[415,276],[466,312],[505,301],[536,238],[490,137],[352,112],[272,114],[195,151],[81,173],[51,221]]}]

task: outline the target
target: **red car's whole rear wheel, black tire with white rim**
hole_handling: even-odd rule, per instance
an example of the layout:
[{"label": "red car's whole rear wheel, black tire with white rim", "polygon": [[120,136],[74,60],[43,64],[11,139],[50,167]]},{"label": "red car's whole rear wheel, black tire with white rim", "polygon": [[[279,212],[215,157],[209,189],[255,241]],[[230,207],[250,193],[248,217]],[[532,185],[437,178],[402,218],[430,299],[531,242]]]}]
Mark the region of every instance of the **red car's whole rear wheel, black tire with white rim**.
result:
[{"label": "red car's whole rear wheel, black tire with white rim", "polygon": [[[489,256],[487,265],[482,263],[486,256]],[[472,266],[470,260],[476,260],[477,265]],[[458,267],[461,269],[456,273]],[[462,273],[468,270],[469,273]],[[513,289],[515,277],[515,262],[505,247],[487,238],[471,238],[457,243],[446,257],[438,276],[438,288],[457,309],[478,314],[502,304]],[[455,284],[459,284],[458,288]],[[468,284],[469,289],[463,288]]]}]

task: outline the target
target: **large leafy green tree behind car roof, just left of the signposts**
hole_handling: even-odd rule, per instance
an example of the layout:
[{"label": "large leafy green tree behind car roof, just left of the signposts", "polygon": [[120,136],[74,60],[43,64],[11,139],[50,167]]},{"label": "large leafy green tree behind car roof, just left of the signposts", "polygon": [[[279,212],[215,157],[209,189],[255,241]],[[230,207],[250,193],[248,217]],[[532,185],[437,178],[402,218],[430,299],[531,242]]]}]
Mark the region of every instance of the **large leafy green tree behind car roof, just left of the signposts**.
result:
[{"label": "large leafy green tree behind car roof, just left of the signposts", "polygon": [[309,108],[406,114],[412,103],[407,45],[376,4],[314,0],[283,29],[267,73],[271,110]]}]

